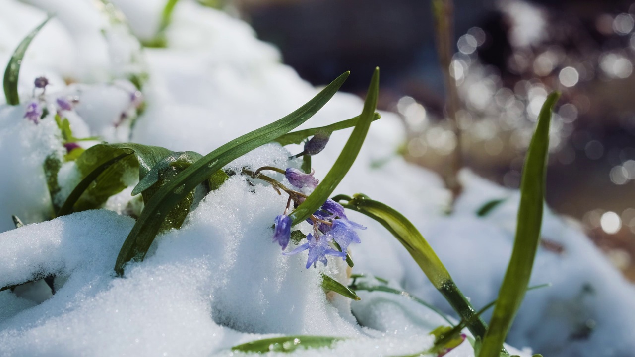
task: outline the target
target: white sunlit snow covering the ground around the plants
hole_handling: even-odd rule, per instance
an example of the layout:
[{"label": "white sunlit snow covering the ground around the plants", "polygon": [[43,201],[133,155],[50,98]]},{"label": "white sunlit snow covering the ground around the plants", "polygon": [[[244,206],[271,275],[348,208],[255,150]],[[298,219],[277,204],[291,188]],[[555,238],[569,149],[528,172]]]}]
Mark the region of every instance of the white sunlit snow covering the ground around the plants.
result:
[{"label": "white sunlit snow covering the ground around the plants", "polygon": [[[144,262],[126,266],[124,278],[114,276],[112,268],[133,219],[91,210],[42,222],[52,214],[43,162],[51,154],[60,157],[64,149],[51,114],[39,125],[23,118],[37,76],[52,83],[38,99],[50,112],[56,110],[56,98],[78,98],[74,110],[64,113],[76,137],[130,138],[201,154],[281,118],[319,88],[280,64],[277,50],[258,41],[247,24],[194,1],[182,0],[175,8],[168,48],[142,52],[127,25],[109,20],[104,6],[84,0],[24,3],[0,0],[0,29],[8,34],[0,36],[1,63],[47,11],[58,15],[23,61],[18,86],[23,104],[0,105],[0,148],[7,153],[0,172],[0,286],[55,274],[57,292],[46,295],[41,281],[22,293],[0,292],[0,354],[230,356],[229,347],[236,344],[295,334],[349,337],[331,349],[298,350],[298,356],[395,356],[431,346],[429,332],[445,321],[429,309],[382,292],[359,292],[359,302],[327,297],[320,273],[347,283],[342,260],[333,257],[326,267],[305,269],[306,253],[281,255],[271,242],[271,226],[286,198],[262,182],[251,186],[239,175],[229,179],[199,203],[181,229],[159,236]],[[152,39],[162,1],[114,3],[135,35]],[[131,107],[135,89],[124,80],[145,73],[145,111],[130,128],[132,120],[120,120],[136,114]],[[300,128],[352,118],[361,107],[358,97],[338,93]],[[404,213],[474,306],[494,300],[511,253],[519,193],[465,170],[464,194],[455,212],[444,215],[450,196],[441,180],[396,155],[403,126],[394,114],[382,115],[335,193],[363,192]],[[314,156],[318,179],[350,132],[333,133],[326,149]],[[301,149],[267,144],[228,166],[297,167],[299,162],[288,156]],[[379,162],[383,165],[373,165]],[[283,180],[279,174],[272,177]],[[74,164],[62,167],[58,182],[60,195],[72,191]],[[130,192],[106,206],[122,212]],[[480,206],[497,198],[507,199],[487,217],[476,216]],[[11,229],[11,214],[34,224]],[[351,247],[354,273],[386,278],[453,315],[396,239],[377,222],[354,212],[350,217],[368,227],[359,233],[363,243]],[[309,231],[308,225],[300,228]],[[540,248],[531,285],[552,286],[527,293],[508,342],[530,348],[511,351],[632,356],[633,286],[584,233],[549,210],[542,235],[561,252]],[[466,341],[446,356],[469,357],[474,351]]]}]

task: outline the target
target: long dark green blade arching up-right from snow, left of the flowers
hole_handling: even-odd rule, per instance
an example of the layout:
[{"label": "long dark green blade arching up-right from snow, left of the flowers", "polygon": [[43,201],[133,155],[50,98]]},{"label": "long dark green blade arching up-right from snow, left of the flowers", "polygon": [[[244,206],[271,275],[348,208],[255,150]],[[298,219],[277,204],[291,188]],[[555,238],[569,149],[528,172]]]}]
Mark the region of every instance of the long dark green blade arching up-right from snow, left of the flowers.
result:
[{"label": "long dark green blade arching up-right from snow, left of the flowers", "polygon": [[335,92],[342,86],[348,76],[349,72],[345,72],[337,77],[335,81],[319,92],[316,97],[288,116],[231,140],[215,151],[210,152],[202,159],[196,161],[196,163],[185,168],[175,179],[161,187],[146,203],[144,211],[130,231],[130,234],[128,234],[128,238],[124,241],[115,263],[114,270],[116,273],[119,276],[123,275],[124,264],[130,262],[130,260],[144,259],[145,253],[159,232],[159,226],[166,219],[166,213],[170,212],[174,206],[182,201],[187,192],[192,191],[197,185],[207,180],[232,160],[243,156],[260,145],[271,142],[274,138],[288,133],[293,128],[297,128],[298,125],[307,121],[335,95]]}]

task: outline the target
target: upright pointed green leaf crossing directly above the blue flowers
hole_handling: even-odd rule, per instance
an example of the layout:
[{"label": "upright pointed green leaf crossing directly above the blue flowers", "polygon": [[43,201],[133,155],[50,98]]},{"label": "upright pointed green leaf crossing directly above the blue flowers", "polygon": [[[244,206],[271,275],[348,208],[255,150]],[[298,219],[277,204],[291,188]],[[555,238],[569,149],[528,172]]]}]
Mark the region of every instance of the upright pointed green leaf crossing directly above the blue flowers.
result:
[{"label": "upright pointed green leaf crossing directly above the blue flowers", "polygon": [[379,95],[379,68],[375,69],[373,77],[370,80],[370,86],[368,86],[368,93],[366,94],[366,101],[364,102],[364,109],[359,116],[359,121],[356,123],[355,129],[351,133],[351,137],[344,145],[342,153],[338,156],[337,160],[333,164],[331,170],[326,174],[322,182],[318,187],[309,195],[309,197],[296,208],[289,217],[293,222],[292,225],[296,225],[303,220],[309,218],[309,216],[318,210],[329,198],[331,193],[335,191],[337,185],[344,179],[344,176],[353,165],[353,162],[358,156],[361,145],[364,144],[366,133],[370,128],[370,123],[374,118],[375,109],[377,108],[377,96]]}]

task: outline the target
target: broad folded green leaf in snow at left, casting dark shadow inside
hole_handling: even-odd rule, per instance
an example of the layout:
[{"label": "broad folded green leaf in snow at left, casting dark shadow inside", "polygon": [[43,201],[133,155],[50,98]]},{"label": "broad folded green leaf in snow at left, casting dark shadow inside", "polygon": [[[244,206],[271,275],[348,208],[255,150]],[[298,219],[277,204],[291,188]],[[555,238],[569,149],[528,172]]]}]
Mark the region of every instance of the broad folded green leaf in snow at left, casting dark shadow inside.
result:
[{"label": "broad folded green leaf in snow at left, casting dark shadow inside", "polygon": [[110,196],[130,185],[126,179],[133,175],[143,179],[152,166],[171,153],[163,147],[141,144],[98,144],[91,147],[76,159],[82,180],[57,215],[99,208]]}]

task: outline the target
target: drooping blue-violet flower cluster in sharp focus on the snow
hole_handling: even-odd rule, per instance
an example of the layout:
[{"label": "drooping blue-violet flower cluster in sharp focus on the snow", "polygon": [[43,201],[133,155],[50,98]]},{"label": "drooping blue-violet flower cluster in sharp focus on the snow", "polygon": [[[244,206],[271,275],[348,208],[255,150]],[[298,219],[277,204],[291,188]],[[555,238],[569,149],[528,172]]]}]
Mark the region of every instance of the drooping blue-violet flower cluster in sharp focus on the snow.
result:
[{"label": "drooping blue-violet flower cluster in sharp focus on the snow", "polygon": [[[269,170],[271,169],[269,168]],[[313,170],[311,173],[304,173],[295,168],[287,168],[284,171],[278,169],[276,171],[284,172],[290,184],[298,189],[305,187],[315,189],[319,183],[313,177]],[[278,185],[278,187],[283,186]],[[283,250],[289,244],[291,236],[292,222],[291,218],[286,214],[290,208],[290,203],[293,201],[295,205],[299,205],[306,198],[304,194],[297,191],[288,189],[284,191],[289,194],[289,201],[284,213],[276,217],[273,236],[273,241],[278,243]],[[326,255],[346,259],[349,245],[351,243],[361,243],[355,230],[366,229],[361,224],[349,220],[344,212],[344,207],[332,199],[327,199],[321,208],[307,219],[307,222],[313,226],[313,232],[307,235],[307,243],[298,246],[291,252],[283,253],[284,255],[293,255],[308,249],[307,269],[311,265],[316,267],[317,262],[322,262],[326,265],[328,263]],[[336,247],[339,250],[335,249]]]}]

